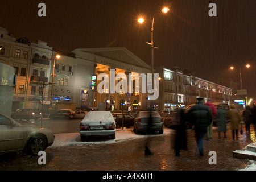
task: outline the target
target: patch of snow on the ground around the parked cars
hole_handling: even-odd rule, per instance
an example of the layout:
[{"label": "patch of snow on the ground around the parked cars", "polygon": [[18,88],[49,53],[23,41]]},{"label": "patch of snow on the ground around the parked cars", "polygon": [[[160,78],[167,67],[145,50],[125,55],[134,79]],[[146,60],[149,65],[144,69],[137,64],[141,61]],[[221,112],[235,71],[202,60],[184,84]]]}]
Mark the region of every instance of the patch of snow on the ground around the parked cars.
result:
[{"label": "patch of snow on the ground around the parked cars", "polygon": [[[174,133],[175,130],[164,130],[164,134]],[[134,134],[133,129],[125,128],[125,129],[117,129],[115,132],[115,139],[109,138],[96,138],[96,139],[88,139],[85,142],[82,142],[80,139],[79,133],[64,133],[64,134],[55,134],[55,140],[50,147],[61,147],[61,146],[68,146],[71,144],[109,144],[109,143],[116,143],[121,142],[123,140],[133,140],[137,138],[144,138],[144,137],[152,137],[152,136],[161,136],[160,135],[137,135]],[[50,148],[49,147],[49,148]]]}]

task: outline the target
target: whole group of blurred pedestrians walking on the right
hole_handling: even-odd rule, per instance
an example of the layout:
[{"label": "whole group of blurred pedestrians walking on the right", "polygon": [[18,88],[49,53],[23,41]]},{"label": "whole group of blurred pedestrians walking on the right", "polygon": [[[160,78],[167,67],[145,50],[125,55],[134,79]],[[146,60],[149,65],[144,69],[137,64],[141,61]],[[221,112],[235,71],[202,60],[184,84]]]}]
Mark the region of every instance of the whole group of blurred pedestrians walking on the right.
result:
[{"label": "whole group of blurred pedestrians walking on the right", "polygon": [[230,122],[233,139],[239,138],[239,129],[241,129],[242,134],[242,118],[246,125],[247,132],[250,132],[251,124],[254,125],[254,131],[256,131],[255,104],[252,108],[250,108],[250,106],[246,106],[246,109],[242,112],[241,115],[234,104],[231,104],[230,109],[226,110],[222,105],[219,105],[218,108],[216,108],[210,102],[210,100],[203,104],[203,98],[197,98],[197,104],[192,106],[187,113],[184,113],[183,109],[180,109],[178,113],[180,114],[180,125],[176,127],[176,138],[174,145],[176,156],[180,156],[180,150],[187,150],[187,139],[185,132],[186,121],[191,122],[194,126],[195,138],[200,156],[204,155],[204,135],[207,135],[207,140],[212,139],[213,119],[215,119],[217,123],[219,139],[221,139],[221,133],[224,133],[224,138],[226,138],[227,120]]}]

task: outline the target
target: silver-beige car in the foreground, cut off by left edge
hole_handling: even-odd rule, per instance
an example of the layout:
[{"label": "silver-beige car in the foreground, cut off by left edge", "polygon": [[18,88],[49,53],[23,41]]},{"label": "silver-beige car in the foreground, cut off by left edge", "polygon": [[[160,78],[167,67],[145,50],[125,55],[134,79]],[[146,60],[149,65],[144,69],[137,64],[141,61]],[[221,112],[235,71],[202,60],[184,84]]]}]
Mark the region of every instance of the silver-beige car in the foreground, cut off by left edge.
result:
[{"label": "silver-beige car in the foreground, cut off by left edge", "polygon": [[55,138],[51,130],[20,125],[3,114],[0,114],[0,131],[0,153],[26,151],[38,155],[51,146]]}]

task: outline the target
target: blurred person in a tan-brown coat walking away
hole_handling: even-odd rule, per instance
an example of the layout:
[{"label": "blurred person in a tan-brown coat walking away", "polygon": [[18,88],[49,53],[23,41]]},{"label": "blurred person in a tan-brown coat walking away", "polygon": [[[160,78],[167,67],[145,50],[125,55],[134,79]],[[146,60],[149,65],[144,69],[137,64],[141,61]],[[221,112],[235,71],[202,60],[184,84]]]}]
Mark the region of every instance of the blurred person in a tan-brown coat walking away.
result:
[{"label": "blurred person in a tan-brown coat walking away", "polygon": [[239,123],[242,121],[242,118],[234,104],[230,105],[230,110],[227,113],[227,117],[231,123],[232,138],[234,139],[236,135],[236,138],[238,139]]}]

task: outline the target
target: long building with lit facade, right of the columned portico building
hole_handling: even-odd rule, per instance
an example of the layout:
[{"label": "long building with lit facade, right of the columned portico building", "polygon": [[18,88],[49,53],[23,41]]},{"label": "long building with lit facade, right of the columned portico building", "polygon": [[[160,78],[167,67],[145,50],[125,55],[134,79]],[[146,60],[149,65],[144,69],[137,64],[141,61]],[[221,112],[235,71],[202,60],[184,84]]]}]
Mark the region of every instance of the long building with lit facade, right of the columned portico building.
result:
[{"label": "long building with lit facade, right of the columned portico building", "polygon": [[233,102],[232,89],[226,86],[196,77],[192,73],[180,70],[157,68],[161,80],[159,81],[159,98],[155,101],[159,110],[174,110],[197,102],[197,97],[203,97],[204,102]]}]

